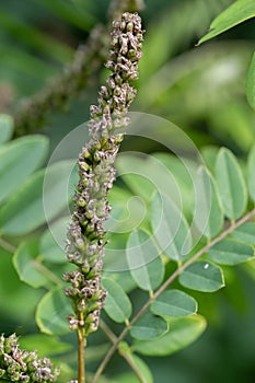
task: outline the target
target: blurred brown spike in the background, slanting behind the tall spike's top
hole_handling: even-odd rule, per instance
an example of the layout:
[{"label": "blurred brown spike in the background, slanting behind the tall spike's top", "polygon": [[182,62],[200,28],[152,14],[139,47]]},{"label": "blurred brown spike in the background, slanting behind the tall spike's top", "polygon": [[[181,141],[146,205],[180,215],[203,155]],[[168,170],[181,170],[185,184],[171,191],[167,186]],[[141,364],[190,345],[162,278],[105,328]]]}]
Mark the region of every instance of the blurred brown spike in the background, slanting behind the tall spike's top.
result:
[{"label": "blurred brown spike in the background, slanting behind the tall spike's top", "polygon": [[[113,0],[108,11],[109,24],[124,11],[139,11],[141,8],[142,0]],[[24,101],[14,114],[14,137],[35,132],[43,126],[49,113],[62,108],[84,91],[90,79],[107,58],[108,28],[95,26],[86,45],[78,48],[73,62],[65,68],[62,74],[49,81],[46,89]]]}]

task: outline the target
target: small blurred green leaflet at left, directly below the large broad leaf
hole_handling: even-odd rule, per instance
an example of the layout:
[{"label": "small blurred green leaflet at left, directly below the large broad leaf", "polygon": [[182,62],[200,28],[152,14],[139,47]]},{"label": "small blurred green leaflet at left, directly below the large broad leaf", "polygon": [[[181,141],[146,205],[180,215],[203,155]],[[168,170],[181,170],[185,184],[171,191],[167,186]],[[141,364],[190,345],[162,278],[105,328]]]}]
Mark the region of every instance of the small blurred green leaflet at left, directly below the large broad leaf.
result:
[{"label": "small blurred green leaflet at left, directly below the large broad leaf", "polygon": [[13,256],[13,265],[20,279],[34,287],[39,288],[48,283],[48,279],[40,269],[38,257],[38,242],[23,242]]}]

